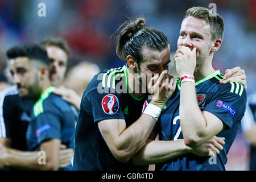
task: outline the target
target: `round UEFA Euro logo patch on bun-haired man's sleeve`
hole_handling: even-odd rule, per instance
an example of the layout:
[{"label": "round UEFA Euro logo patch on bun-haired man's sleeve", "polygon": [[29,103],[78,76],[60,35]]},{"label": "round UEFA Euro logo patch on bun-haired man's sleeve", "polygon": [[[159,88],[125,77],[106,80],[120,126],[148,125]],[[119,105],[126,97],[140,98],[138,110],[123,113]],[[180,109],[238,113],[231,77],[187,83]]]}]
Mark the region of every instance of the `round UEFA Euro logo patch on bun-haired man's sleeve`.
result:
[{"label": "round UEFA Euro logo patch on bun-haired man's sleeve", "polygon": [[101,102],[102,109],[106,114],[115,114],[119,108],[117,96],[113,94],[106,95]]}]

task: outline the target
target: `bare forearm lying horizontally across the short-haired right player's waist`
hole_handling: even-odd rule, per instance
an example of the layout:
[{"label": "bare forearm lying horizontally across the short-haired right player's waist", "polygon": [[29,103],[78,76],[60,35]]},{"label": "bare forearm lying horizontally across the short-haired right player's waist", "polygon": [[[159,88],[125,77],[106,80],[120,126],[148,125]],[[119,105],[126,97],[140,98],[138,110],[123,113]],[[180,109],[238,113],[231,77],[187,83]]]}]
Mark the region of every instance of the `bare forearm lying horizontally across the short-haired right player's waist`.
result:
[{"label": "bare forearm lying horizontally across the short-haired right player's waist", "polygon": [[162,163],[191,151],[192,148],[186,146],[183,139],[175,141],[147,140],[142,150],[133,157],[133,163],[142,166]]}]

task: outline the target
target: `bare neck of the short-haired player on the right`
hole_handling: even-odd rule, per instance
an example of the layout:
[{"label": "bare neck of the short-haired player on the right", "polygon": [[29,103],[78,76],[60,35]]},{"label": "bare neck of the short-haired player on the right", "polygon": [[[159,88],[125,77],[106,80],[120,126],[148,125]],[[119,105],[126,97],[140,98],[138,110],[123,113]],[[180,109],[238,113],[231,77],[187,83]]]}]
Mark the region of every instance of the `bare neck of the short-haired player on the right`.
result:
[{"label": "bare neck of the short-haired player on the right", "polygon": [[207,60],[204,61],[203,64],[200,65],[200,67],[195,69],[195,81],[197,82],[199,80],[202,80],[203,78],[214,72],[215,70],[212,67],[212,56],[210,56],[207,58]]}]

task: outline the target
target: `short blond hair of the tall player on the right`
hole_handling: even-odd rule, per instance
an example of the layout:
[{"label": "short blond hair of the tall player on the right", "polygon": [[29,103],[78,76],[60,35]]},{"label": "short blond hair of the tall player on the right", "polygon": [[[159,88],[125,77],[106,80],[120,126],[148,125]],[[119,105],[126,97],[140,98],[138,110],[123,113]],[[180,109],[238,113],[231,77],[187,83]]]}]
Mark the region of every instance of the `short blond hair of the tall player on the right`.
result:
[{"label": "short blond hair of the tall player on the right", "polygon": [[[203,19],[210,26],[211,40],[221,39],[224,37],[224,19],[217,13],[213,13],[206,7],[191,7],[187,10],[184,19],[188,16]],[[183,19],[183,20],[184,20]]]}]

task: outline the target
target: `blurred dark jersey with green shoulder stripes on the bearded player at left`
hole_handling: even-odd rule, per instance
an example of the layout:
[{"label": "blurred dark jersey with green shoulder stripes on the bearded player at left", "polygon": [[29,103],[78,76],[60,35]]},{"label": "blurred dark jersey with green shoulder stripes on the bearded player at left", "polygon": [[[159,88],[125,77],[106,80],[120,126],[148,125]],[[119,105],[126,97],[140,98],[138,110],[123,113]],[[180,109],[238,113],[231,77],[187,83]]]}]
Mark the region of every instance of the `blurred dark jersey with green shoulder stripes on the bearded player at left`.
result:
[{"label": "blurred dark jersey with green shoulder stripes on the bearded player at left", "polygon": [[[31,112],[27,129],[27,144],[31,151],[40,150],[40,144],[48,139],[60,139],[67,148],[75,148],[75,119],[70,105],[52,93],[54,86],[44,90]],[[72,170],[68,166],[64,170]]]}]

